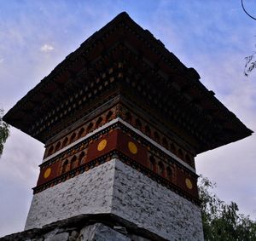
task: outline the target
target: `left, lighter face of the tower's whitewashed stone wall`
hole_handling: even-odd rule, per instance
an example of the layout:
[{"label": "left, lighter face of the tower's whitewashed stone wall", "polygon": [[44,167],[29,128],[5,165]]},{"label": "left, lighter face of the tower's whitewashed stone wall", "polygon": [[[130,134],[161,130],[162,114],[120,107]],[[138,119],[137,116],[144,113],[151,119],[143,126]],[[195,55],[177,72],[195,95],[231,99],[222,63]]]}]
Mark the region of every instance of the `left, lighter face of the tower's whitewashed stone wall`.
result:
[{"label": "left, lighter face of the tower's whitewashed stone wall", "polygon": [[25,230],[79,214],[110,213],[114,165],[110,161],[35,194]]}]

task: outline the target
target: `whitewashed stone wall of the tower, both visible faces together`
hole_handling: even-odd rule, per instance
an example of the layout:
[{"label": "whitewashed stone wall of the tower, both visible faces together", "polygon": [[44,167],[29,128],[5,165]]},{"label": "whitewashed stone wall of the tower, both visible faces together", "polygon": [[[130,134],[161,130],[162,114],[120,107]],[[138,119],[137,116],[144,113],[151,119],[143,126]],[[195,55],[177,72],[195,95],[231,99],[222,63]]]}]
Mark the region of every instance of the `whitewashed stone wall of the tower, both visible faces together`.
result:
[{"label": "whitewashed stone wall of the tower, both visible faces together", "polygon": [[119,215],[167,240],[203,240],[198,206],[116,159],[35,194],[26,229],[97,213]]}]

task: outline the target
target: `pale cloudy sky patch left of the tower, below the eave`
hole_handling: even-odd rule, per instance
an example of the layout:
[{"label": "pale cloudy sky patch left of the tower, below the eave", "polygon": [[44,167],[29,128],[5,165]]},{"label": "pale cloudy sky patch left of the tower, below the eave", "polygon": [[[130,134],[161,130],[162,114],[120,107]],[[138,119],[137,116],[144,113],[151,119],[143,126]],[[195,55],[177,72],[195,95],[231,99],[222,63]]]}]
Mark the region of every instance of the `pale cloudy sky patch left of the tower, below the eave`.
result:
[{"label": "pale cloudy sky patch left of the tower, below the eave", "polygon": [[15,128],[10,134],[0,158],[0,237],[23,230],[44,154],[43,144],[31,136]]}]

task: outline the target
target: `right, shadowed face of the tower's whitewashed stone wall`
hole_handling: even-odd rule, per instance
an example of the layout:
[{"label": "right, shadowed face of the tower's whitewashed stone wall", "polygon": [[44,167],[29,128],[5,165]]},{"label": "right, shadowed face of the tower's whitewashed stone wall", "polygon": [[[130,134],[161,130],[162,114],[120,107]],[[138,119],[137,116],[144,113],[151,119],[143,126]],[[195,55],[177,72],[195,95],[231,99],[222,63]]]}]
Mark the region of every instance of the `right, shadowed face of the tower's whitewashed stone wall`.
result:
[{"label": "right, shadowed face of the tower's whitewashed stone wall", "polygon": [[203,240],[200,207],[119,161],[112,213],[168,240]]}]

